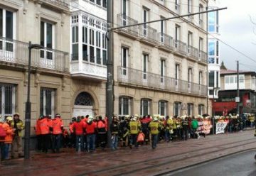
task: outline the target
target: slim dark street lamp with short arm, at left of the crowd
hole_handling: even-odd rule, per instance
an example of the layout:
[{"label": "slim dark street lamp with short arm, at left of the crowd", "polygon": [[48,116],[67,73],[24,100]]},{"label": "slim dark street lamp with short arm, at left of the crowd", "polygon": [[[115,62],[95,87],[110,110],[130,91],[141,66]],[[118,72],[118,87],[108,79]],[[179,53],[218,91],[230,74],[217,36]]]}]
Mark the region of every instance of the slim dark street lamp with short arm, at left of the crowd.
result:
[{"label": "slim dark street lamp with short arm, at left of the crowd", "polygon": [[28,95],[26,101],[26,115],[25,115],[25,144],[24,144],[24,156],[25,159],[29,158],[29,143],[31,133],[31,102],[30,102],[30,81],[31,81],[31,50],[40,50],[43,46],[38,44],[28,45]]}]

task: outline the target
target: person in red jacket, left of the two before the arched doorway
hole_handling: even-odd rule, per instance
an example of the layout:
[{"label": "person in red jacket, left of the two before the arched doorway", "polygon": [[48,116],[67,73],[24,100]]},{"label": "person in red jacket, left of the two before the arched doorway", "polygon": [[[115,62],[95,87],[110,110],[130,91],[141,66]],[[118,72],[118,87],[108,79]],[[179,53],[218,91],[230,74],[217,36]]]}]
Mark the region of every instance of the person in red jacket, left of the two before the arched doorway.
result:
[{"label": "person in red jacket, left of the two before the arched doorway", "polygon": [[78,116],[77,121],[74,123],[73,130],[75,133],[75,151],[84,151],[85,122],[81,121],[80,116]]}]

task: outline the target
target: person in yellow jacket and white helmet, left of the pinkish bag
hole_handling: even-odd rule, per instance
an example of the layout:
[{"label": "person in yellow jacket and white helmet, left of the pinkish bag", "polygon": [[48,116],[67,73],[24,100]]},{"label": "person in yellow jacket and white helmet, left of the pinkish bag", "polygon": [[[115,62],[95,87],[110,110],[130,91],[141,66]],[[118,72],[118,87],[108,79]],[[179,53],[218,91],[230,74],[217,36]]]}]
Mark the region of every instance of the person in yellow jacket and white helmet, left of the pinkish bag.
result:
[{"label": "person in yellow jacket and white helmet, left of the pinkish bag", "polygon": [[132,149],[132,145],[135,145],[135,148],[138,148],[138,143],[137,143],[137,137],[139,134],[139,131],[141,131],[141,123],[138,121],[138,115],[134,115],[134,117],[131,119],[129,122],[129,131],[130,131],[130,136],[129,136],[129,147]]}]

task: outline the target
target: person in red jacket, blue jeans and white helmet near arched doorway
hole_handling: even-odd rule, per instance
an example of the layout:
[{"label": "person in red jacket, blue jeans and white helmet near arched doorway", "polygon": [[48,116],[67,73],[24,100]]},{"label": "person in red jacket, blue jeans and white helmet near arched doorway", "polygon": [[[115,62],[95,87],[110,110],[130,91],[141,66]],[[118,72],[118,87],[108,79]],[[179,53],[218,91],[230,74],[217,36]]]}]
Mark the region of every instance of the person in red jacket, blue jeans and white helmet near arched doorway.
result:
[{"label": "person in red jacket, blue jeans and white helmet near arched doorway", "polygon": [[93,121],[92,116],[89,116],[85,123],[85,133],[87,136],[87,151],[95,152],[95,137],[97,131],[97,124]]}]

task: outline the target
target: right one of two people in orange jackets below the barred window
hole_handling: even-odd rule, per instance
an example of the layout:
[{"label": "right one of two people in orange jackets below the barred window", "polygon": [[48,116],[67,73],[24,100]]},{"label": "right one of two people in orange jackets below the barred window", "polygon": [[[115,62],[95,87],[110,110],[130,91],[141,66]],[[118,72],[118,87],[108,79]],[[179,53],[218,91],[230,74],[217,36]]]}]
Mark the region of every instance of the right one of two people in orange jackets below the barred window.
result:
[{"label": "right one of two people in orange jackets below the barred window", "polygon": [[60,119],[60,114],[56,114],[51,121],[51,131],[53,133],[53,153],[60,153],[61,135],[63,131],[63,121]]}]

